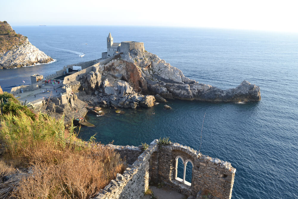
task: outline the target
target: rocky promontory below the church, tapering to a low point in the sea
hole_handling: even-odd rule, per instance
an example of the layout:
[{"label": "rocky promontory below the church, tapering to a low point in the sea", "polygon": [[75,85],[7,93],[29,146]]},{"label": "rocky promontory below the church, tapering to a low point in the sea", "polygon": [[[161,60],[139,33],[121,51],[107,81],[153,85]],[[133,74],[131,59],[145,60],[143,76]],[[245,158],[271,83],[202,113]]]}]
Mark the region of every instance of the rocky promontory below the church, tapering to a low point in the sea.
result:
[{"label": "rocky promontory below the church, tapering to a low point in the sea", "polygon": [[94,70],[79,81],[81,90],[97,96],[95,101],[113,107],[152,107],[159,97],[209,102],[261,99],[260,87],[248,81],[222,90],[185,77],[181,70],[157,55],[136,49],[116,55],[105,65],[94,65]]}]

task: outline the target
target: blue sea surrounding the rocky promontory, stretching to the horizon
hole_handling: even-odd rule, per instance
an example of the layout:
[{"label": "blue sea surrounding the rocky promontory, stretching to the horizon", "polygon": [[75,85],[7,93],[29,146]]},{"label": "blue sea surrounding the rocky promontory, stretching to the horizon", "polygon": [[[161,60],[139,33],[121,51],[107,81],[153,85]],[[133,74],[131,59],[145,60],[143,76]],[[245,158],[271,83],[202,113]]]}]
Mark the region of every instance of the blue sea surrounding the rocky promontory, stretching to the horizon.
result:
[{"label": "blue sea surrounding the rocky promontory, stretching to the horizon", "polygon": [[[234,199],[298,198],[298,34],[127,26],[13,29],[56,61],[0,70],[4,91],[23,80],[30,84],[34,73],[46,76],[68,64],[100,58],[107,50],[109,32],[115,42],[144,42],[145,50],[200,83],[221,89],[237,87],[243,80],[256,84],[259,102],[171,99],[167,104],[172,110],[163,109],[161,103],[149,109],[123,109],[124,114],[114,109],[107,109],[103,117],[88,114],[95,127],[82,127],[78,136],[88,140],[95,135],[103,144],[134,146],[170,137],[230,162],[236,168]],[[190,179],[191,173],[187,175]]]}]

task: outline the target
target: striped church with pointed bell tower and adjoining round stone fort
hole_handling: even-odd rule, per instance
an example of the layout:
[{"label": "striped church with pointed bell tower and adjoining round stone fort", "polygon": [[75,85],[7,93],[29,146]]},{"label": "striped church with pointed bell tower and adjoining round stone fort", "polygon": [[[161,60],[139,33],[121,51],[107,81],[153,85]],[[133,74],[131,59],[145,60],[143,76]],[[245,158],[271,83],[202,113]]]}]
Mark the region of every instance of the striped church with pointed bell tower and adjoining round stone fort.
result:
[{"label": "striped church with pointed bell tower and adjoining round stone fort", "polygon": [[114,43],[114,38],[111,33],[107,37],[107,52],[101,54],[103,59],[111,57],[118,52],[128,53],[132,49],[138,49],[142,53],[145,51],[144,43],[137,41],[122,41],[121,43]]}]

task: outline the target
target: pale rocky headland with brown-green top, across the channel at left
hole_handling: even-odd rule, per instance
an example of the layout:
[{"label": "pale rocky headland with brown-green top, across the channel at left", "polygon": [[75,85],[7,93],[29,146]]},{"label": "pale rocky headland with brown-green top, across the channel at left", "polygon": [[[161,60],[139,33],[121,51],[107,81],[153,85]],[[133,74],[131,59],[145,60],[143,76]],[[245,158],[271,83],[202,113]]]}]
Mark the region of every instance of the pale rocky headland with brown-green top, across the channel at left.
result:
[{"label": "pale rocky headland with brown-green top, across the channel at left", "polygon": [[33,46],[27,37],[16,34],[6,22],[0,21],[0,69],[45,64],[51,57]]}]

